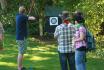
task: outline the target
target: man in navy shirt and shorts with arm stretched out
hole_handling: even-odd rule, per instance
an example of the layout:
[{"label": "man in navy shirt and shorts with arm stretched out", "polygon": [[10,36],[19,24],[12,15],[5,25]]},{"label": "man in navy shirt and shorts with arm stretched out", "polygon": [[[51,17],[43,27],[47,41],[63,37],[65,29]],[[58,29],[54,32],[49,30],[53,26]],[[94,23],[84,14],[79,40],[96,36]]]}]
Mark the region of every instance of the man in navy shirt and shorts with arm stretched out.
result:
[{"label": "man in navy shirt and shorts with arm stretched out", "polygon": [[16,40],[18,44],[18,70],[23,70],[22,62],[23,62],[23,55],[26,51],[26,38],[27,38],[27,21],[28,20],[35,20],[33,16],[26,16],[25,15],[25,7],[19,7],[19,14],[16,15]]}]

